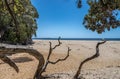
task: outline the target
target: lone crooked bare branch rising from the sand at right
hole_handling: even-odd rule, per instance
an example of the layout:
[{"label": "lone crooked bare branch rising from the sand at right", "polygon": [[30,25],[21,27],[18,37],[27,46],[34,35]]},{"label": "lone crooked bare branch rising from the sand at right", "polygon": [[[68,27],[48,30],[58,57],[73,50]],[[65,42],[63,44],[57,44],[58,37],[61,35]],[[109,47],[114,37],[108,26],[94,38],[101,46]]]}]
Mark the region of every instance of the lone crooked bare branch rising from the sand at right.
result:
[{"label": "lone crooked bare branch rising from the sand at right", "polygon": [[81,73],[81,69],[82,69],[83,64],[86,63],[86,62],[88,62],[88,61],[90,61],[90,60],[92,60],[92,59],[97,58],[97,57],[99,56],[99,45],[104,44],[105,42],[106,42],[106,41],[98,42],[97,45],[96,45],[96,53],[95,53],[93,56],[91,56],[91,57],[89,57],[89,58],[86,58],[85,60],[83,60],[83,61],[80,63],[80,66],[79,66],[79,68],[78,68],[78,70],[77,70],[77,72],[76,72],[76,74],[75,74],[75,76],[74,76],[74,79],[80,79],[80,78],[79,78],[79,74]]}]

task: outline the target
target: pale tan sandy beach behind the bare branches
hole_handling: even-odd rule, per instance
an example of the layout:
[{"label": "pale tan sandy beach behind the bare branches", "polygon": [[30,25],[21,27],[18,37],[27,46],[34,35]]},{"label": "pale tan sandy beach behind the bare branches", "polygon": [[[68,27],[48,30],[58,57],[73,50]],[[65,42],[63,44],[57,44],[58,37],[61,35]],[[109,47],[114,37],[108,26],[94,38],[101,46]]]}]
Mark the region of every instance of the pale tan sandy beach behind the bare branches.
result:
[{"label": "pale tan sandy beach behind the bare branches", "polygon": [[[46,59],[49,52],[49,41],[56,45],[57,40],[34,40],[31,48],[38,50]],[[74,41],[61,40],[62,45],[56,48],[50,58],[55,61],[64,58],[67,54],[67,47],[72,49],[67,60],[55,65],[49,64],[44,76],[47,79],[72,79],[79,64],[84,59],[95,54],[95,47],[98,41]],[[20,72],[16,73],[13,68],[0,60],[0,79],[32,79],[38,61],[29,54],[15,54],[9,56],[16,62]],[[107,41],[100,45],[100,56],[83,65],[81,75],[85,79],[120,79],[120,41]]]}]

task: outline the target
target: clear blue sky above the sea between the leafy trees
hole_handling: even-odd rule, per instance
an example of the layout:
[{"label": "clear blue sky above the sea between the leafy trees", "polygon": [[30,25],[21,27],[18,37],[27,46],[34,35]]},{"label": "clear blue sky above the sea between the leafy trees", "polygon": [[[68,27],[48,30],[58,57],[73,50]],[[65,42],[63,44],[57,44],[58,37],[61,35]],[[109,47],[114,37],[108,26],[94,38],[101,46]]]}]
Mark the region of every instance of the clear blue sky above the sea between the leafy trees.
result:
[{"label": "clear blue sky above the sea between the leafy trees", "polygon": [[86,0],[81,9],[75,0],[31,1],[39,13],[37,38],[120,38],[120,27],[97,34],[82,25],[89,9]]}]

